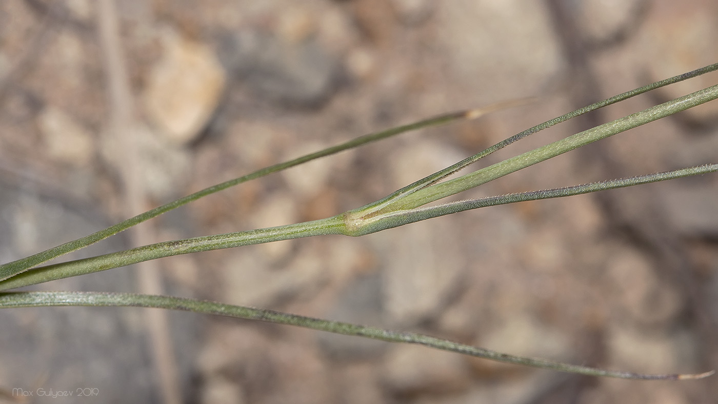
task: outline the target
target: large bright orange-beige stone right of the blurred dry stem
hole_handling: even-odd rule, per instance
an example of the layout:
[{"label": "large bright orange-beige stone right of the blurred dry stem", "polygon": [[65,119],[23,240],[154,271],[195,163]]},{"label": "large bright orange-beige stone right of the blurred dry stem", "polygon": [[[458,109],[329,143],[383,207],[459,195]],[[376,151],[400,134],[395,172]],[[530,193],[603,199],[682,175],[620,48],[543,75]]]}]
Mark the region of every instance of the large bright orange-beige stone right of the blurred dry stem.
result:
[{"label": "large bright orange-beige stone right of the blurred dry stem", "polygon": [[164,55],[147,80],[144,104],[151,121],[174,144],[192,141],[223,94],[225,73],[214,53],[172,30],[162,36]]}]

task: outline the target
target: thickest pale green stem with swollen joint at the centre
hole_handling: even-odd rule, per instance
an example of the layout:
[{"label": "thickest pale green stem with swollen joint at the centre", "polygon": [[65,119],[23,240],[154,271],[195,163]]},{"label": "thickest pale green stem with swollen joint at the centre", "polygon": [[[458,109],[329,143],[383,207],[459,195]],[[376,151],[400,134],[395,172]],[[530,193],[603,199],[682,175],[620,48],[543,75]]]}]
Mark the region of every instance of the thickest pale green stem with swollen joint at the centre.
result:
[{"label": "thickest pale green stem with swollen joint at the centre", "polygon": [[[419,209],[419,207],[426,205],[426,203],[457,194],[472,187],[477,187],[480,184],[485,184],[493,179],[503,177],[519,169],[537,164],[538,162],[546,161],[567,151],[572,151],[586,144],[613,136],[645,123],[656,121],[657,119],[679,111],[684,111],[716,98],[718,98],[718,85],[704,88],[703,90],[647,108],[638,113],[633,113],[615,121],[604,123],[587,131],[576,133],[573,136],[527,151],[510,159],[505,159],[457,179],[451,179],[423,189],[417,189],[416,192],[404,194],[403,197],[393,200],[393,202],[388,205],[369,204],[341,215],[315,220],[313,222],[155,243],[131,250],[124,250],[119,253],[110,253],[93,258],[45,266],[36,268],[34,271],[27,273],[26,276],[0,281],[0,291],[16,288],[18,285],[27,285],[29,281],[39,283],[57,278],[67,278],[68,276],[78,276],[83,273],[128,266],[133,263],[163,258],[170,255],[269,243],[271,241],[304,238],[313,235],[343,234],[359,236],[386,230],[409,222],[416,222],[417,220],[423,220],[422,217],[428,218],[434,217],[431,215],[439,215],[439,210]],[[690,172],[691,169],[688,170],[687,172]],[[706,167],[693,170],[698,170],[695,171],[696,174],[711,171],[711,169],[707,169],[708,171],[700,171],[706,170]],[[493,202],[496,204],[500,202],[500,199],[493,199]],[[466,204],[465,206],[469,209],[468,206],[470,206],[470,204]],[[487,205],[476,205],[472,209],[483,206]],[[381,209],[377,210],[378,207],[381,207]],[[412,209],[416,210],[412,212]],[[448,209],[449,208],[444,208],[444,211],[449,212]],[[445,214],[446,213],[443,215]]]}]

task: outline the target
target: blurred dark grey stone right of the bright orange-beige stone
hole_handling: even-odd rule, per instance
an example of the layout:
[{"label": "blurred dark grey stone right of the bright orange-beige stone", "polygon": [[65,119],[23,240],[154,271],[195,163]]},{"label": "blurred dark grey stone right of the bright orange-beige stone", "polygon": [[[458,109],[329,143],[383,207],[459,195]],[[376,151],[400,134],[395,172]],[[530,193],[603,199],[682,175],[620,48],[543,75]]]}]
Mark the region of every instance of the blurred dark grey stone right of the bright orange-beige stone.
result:
[{"label": "blurred dark grey stone right of the bright orange-beige stone", "polygon": [[337,83],[337,60],[313,37],[290,42],[261,32],[225,37],[223,63],[254,93],[301,106],[324,102]]}]

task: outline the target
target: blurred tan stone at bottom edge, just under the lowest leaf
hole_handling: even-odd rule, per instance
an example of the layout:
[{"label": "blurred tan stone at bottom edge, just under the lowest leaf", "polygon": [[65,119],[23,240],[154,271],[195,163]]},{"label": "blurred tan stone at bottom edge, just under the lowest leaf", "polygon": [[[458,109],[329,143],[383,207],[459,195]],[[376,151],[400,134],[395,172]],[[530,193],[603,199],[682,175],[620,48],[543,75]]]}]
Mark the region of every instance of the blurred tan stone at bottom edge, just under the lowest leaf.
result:
[{"label": "blurred tan stone at bottom edge, just under the lowest leaf", "polygon": [[398,395],[458,393],[471,383],[467,370],[459,354],[401,344],[387,355],[381,380]]}]

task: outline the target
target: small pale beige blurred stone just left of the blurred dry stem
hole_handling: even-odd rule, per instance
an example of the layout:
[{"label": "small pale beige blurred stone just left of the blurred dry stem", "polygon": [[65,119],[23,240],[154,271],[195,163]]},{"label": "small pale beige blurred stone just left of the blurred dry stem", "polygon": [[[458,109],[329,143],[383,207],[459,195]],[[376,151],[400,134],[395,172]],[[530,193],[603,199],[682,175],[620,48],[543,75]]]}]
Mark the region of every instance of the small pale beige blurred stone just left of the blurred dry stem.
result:
[{"label": "small pale beige blurred stone just left of the blurred dry stem", "polygon": [[67,113],[48,106],[38,121],[47,153],[72,166],[87,166],[95,155],[94,136]]}]

